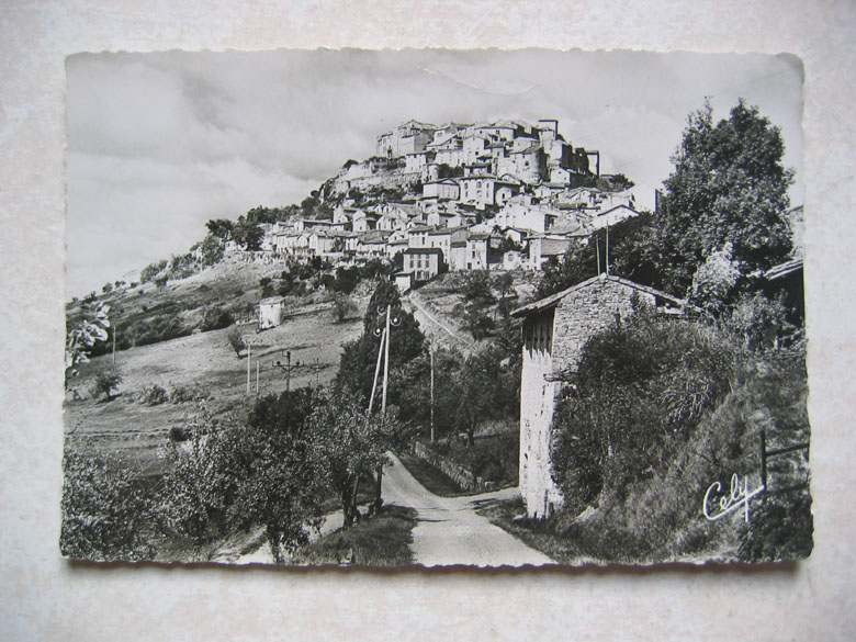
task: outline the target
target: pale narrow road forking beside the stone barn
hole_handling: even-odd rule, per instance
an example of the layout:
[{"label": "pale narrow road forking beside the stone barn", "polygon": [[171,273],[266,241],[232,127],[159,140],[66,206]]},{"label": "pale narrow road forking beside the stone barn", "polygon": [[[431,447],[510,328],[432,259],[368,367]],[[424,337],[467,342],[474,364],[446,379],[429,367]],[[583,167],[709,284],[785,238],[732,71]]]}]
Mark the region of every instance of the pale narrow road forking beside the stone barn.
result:
[{"label": "pale narrow road forking beside the stone barn", "polygon": [[410,506],[419,523],[413,533],[414,562],[425,566],[468,564],[522,566],[554,562],[477,515],[478,502],[510,498],[514,488],[469,497],[440,497],[423,486],[402,462],[384,469],[383,496],[387,504]]}]

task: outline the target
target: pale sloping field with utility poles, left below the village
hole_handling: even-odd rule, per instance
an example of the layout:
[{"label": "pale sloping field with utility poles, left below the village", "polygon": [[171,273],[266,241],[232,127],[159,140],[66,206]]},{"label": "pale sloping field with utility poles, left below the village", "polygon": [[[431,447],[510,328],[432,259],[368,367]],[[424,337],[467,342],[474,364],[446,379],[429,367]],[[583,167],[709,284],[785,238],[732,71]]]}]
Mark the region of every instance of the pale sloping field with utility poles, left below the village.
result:
[{"label": "pale sloping field with utility poles, left below the village", "polygon": [[257,394],[285,390],[286,373],[277,365],[277,361],[286,362],[285,350],[291,351],[292,387],[327,384],[336,375],[342,346],[362,330],[365,303],[364,297],[357,300],[358,313],[342,324],[334,323],[330,304],[320,303],[293,311],[281,326],[262,333],[257,333],[255,324],[239,326],[254,343],[249,395],[247,350],[238,357],[227,338],[234,326],[116,352],[123,380],[112,401],[93,398],[90,392],[95,372],[110,368],[112,356],[93,358],[69,382],[82,399],[72,399],[74,393],[69,393],[65,403],[66,439],[76,444],[88,440],[97,449],[122,453],[144,474],[157,473],[157,449],[166,442],[171,427],[192,418],[199,402],[173,403],[170,398],[149,406],[143,401],[146,388],[158,385],[170,397],[177,388],[184,388],[194,397],[204,397],[209,412],[223,414]]}]

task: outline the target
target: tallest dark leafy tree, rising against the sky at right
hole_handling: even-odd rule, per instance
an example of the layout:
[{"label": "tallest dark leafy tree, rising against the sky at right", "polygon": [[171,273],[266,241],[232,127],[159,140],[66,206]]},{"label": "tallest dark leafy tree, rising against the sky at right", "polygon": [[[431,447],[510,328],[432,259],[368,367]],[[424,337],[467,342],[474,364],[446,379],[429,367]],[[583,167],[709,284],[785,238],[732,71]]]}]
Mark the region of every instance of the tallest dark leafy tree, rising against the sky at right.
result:
[{"label": "tallest dark leafy tree, rising against the sky at right", "polygon": [[778,127],[741,99],[713,124],[707,102],[690,114],[656,213],[663,284],[684,293],[710,252],[727,243],[743,273],[784,261],[793,172],[781,165]]}]

